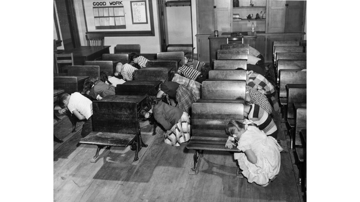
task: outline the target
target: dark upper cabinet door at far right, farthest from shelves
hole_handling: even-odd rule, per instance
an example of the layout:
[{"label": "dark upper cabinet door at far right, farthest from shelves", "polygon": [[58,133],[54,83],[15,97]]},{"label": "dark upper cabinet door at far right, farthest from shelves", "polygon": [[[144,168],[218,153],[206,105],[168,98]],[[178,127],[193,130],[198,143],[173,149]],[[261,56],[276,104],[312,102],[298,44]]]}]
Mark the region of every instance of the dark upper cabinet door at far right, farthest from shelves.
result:
[{"label": "dark upper cabinet door at far right, farthest from shelves", "polygon": [[286,1],[285,32],[302,32],[305,1]]}]

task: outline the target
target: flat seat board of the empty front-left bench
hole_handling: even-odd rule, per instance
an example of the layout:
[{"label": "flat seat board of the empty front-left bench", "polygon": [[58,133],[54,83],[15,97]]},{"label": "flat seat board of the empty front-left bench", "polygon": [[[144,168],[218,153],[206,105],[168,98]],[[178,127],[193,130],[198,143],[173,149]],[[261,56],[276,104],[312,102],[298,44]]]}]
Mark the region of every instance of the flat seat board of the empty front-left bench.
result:
[{"label": "flat seat board of the empty front-left bench", "polygon": [[80,140],[81,144],[93,144],[102,146],[127,147],[134,141],[136,134],[91,132]]}]

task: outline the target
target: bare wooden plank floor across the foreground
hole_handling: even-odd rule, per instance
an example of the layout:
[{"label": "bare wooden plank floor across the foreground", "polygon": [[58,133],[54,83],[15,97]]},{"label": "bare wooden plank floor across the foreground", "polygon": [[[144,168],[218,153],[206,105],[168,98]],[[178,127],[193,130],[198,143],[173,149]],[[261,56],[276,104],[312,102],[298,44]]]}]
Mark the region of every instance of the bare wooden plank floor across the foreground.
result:
[{"label": "bare wooden plank floor across the foreground", "polygon": [[116,147],[91,163],[96,146],[78,144],[82,123],[71,133],[71,123],[63,117],[54,124],[54,134],[64,139],[62,144],[54,142],[54,201],[303,201],[284,124],[279,123],[279,114],[274,120],[286,152],[281,153],[278,178],[264,188],[235,177],[235,160],[229,152],[204,151],[198,174],[189,175],[194,152],[186,149],[186,143],[165,144],[160,128],[151,136],[148,123],[141,124],[149,146],[138,165],[131,165],[134,151]]}]

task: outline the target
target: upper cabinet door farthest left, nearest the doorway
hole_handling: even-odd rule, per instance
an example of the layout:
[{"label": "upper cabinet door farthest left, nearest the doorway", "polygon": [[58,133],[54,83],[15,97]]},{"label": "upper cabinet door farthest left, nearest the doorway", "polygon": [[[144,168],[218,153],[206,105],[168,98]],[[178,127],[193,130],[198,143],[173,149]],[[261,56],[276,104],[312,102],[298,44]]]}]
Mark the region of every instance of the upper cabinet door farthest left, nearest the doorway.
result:
[{"label": "upper cabinet door farthest left, nearest the doorway", "polygon": [[197,0],[198,34],[210,34],[214,31],[214,0]]}]

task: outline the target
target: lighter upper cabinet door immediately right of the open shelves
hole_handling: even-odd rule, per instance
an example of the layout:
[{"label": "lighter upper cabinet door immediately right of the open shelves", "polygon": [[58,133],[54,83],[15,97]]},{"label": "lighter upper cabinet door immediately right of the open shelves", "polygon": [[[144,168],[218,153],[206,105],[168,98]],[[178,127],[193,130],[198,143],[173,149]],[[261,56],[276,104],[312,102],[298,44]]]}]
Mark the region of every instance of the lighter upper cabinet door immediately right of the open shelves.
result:
[{"label": "lighter upper cabinet door immediately right of the open shelves", "polygon": [[282,33],[285,31],[286,1],[267,1],[267,33]]}]

